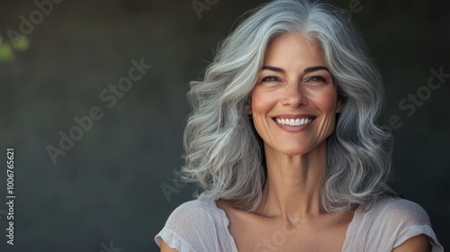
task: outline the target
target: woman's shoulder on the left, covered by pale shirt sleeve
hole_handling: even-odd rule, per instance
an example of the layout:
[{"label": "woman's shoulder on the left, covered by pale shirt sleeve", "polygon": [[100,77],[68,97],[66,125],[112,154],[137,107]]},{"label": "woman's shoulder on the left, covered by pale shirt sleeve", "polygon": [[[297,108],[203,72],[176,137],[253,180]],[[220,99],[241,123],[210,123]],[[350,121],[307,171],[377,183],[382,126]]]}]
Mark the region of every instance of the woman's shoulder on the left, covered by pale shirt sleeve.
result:
[{"label": "woman's shoulder on the left, covered by pale shirt sleeve", "polygon": [[212,199],[184,202],[170,214],[155,241],[160,245],[164,240],[177,251],[221,251],[215,245],[228,242],[226,220]]}]

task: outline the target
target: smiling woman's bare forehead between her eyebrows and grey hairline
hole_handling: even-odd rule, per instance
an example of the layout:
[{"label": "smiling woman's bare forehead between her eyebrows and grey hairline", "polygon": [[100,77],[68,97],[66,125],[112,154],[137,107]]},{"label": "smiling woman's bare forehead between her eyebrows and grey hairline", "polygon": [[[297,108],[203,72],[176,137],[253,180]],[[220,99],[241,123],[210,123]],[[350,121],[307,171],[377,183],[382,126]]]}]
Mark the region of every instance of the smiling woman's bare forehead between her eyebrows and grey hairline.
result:
[{"label": "smiling woman's bare forehead between her eyebrows and grey hairline", "polygon": [[272,40],[265,55],[265,64],[285,65],[289,62],[303,62],[325,66],[323,49],[318,40],[302,33],[284,33]]}]

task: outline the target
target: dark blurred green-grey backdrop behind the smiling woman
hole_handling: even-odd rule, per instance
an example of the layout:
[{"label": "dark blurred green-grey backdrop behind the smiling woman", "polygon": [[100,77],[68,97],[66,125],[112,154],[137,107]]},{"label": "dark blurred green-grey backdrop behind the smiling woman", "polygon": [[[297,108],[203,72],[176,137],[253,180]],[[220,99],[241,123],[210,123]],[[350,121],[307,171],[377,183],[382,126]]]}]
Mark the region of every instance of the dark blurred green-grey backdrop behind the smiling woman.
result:
[{"label": "dark blurred green-grey backdrop behind the smiling woman", "polygon": [[[331,2],[349,8],[352,1]],[[15,148],[16,199],[15,245],[6,246],[0,215],[0,251],[98,252],[110,241],[122,252],[158,251],[153,237],[193,193],[189,185],[167,201],[161,190],[175,185],[183,164],[187,84],[202,77],[239,15],[260,3],[220,0],[199,19],[191,1],[65,0],[14,49],[6,31],[20,31],[19,16],[28,18],[37,7],[2,1],[0,211],[6,209],[7,147]],[[399,102],[427,85],[430,68],[450,73],[450,4],[360,4],[353,17],[383,72],[384,120],[398,115],[403,122],[394,130],[393,183],[428,211],[448,247],[450,78],[410,117]],[[99,94],[128,75],[133,58],[153,68],[106,107]],[[73,118],[94,105],[103,118],[53,164],[46,147],[58,147],[59,130],[67,133]]]}]

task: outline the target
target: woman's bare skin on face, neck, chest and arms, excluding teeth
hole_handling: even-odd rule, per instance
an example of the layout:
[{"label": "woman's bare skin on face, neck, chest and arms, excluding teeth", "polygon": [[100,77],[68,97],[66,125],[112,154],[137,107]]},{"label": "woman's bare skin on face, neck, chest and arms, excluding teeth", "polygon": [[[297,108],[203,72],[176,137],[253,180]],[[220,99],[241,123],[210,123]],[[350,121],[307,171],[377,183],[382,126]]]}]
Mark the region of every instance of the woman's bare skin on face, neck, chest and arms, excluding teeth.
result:
[{"label": "woman's bare skin on face, neck, chest and arms, excluding teeth", "polygon": [[[326,139],[340,112],[336,85],[319,42],[301,33],[273,40],[251,94],[247,113],[264,140],[267,177],[255,212],[219,200],[239,251],[341,251],[355,211],[325,212],[320,191],[326,175]],[[275,118],[312,118],[306,126]],[[163,242],[161,251],[176,251]],[[394,252],[430,251],[427,236],[405,241]]]}]

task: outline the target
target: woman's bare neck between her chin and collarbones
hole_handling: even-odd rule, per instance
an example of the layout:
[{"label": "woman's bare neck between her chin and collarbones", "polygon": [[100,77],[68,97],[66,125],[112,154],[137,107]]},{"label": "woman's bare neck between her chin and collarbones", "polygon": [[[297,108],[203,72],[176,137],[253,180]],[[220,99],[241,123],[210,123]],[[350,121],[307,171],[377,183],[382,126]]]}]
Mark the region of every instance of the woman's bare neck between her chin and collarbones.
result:
[{"label": "woman's bare neck between her chin and collarbones", "polygon": [[320,214],[326,142],[302,156],[286,156],[266,148],[266,184],[258,212],[265,216],[301,220]]}]

